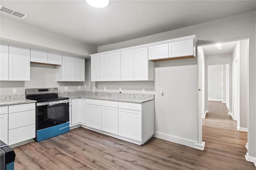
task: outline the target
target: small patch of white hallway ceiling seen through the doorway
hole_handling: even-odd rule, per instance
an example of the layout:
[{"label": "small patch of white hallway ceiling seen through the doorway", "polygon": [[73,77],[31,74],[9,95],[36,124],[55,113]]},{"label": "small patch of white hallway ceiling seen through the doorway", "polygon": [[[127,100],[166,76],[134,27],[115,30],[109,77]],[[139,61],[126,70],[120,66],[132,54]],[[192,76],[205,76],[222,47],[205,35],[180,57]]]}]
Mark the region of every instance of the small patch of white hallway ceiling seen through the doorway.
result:
[{"label": "small patch of white hallway ceiling seen through the doorway", "polygon": [[222,49],[218,49],[216,44],[204,45],[202,48],[204,49],[204,54],[207,55],[219,55],[219,54],[228,54],[234,51],[238,41],[234,42],[224,42],[221,43]]}]

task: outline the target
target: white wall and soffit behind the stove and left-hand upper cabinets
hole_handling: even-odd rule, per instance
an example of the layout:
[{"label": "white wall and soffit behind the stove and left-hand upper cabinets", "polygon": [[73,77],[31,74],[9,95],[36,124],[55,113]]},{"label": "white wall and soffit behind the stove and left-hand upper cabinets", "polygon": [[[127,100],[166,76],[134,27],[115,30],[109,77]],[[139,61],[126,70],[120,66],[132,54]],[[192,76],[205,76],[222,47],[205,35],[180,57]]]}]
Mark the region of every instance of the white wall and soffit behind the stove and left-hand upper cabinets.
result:
[{"label": "white wall and soffit behind the stove and left-hand upper cabinets", "polygon": [[[91,53],[96,53],[97,47],[83,42],[78,42],[70,38],[46,32],[39,28],[28,26],[20,22],[2,18],[0,21],[0,40],[4,43],[12,43],[32,48],[43,49],[68,55],[76,55],[79,57],[88,57]],[[90,62],[86,61],[86,81],[85,82],[56,82],[56,66],[31,64],[30,81],[0,81],[0,95],[15,95],[12,94],[12,89],[17,89],[17,95],[24,95],[26,88],[40,87],[58,87],[59,91],[65,91],[65,86],[68,91],[81,90],[91,91],[92,87],[89,83],[90,77],[88,69]],[[84,89],[84,85],[87,88]]]}]

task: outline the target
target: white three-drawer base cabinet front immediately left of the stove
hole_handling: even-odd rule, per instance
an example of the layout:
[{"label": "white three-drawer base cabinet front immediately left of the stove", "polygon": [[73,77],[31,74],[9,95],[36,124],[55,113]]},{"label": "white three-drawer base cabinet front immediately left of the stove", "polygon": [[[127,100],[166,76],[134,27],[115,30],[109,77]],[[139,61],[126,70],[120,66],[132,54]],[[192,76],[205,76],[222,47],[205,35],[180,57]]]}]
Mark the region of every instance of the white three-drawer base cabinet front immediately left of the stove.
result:
[{"label": "white three-drawer base cabinet front immediately left of the stove", "polygon": [[[9,106],[8,144],[30,140],[36,136],[35,103]],[[20,121],[23,120],[23,121]]]}]

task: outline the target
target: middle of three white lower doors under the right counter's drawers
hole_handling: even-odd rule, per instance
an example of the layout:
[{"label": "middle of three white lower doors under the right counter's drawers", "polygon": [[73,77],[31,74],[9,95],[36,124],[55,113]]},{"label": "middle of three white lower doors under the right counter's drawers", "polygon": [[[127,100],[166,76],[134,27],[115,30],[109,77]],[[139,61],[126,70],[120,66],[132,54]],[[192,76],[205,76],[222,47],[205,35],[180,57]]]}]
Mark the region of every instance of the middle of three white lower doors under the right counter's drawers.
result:
[{"label": "middle of three white lower doors under the right counter's drawers", "polygon": [[102,130],[118,135],[118,108],[102,106]]}]

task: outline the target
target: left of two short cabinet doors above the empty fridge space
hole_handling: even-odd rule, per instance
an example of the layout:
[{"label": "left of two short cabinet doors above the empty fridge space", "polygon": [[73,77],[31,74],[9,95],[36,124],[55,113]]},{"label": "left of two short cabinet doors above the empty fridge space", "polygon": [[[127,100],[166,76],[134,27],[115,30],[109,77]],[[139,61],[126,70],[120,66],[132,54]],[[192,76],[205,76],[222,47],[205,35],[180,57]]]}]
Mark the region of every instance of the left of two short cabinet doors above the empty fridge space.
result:
[{"label": "left of two short cabinet doors above the empty fridge space", "polygon": [[148,59],[168,58],[168,43],[148,47]]}]

